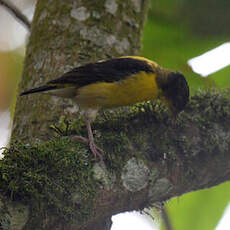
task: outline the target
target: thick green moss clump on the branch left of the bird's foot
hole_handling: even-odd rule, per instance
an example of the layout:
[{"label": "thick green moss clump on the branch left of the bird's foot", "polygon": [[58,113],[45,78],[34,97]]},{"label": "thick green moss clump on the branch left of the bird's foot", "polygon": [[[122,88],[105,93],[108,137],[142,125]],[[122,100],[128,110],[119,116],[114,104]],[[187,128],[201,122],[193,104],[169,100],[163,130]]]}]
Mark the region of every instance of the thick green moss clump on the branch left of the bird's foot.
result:
[{"label": "thick green moss clump on the branch left of the bird's foot", "polygon": [[[87,219],[98,181],[92,172],[94,160],[83,146],[61,137],[39,144],[13,143],[4,155],[1,192],[29,203],[43,217],[50,212],[67,220]],[[78,204],[72,201],[76,193]]]}]

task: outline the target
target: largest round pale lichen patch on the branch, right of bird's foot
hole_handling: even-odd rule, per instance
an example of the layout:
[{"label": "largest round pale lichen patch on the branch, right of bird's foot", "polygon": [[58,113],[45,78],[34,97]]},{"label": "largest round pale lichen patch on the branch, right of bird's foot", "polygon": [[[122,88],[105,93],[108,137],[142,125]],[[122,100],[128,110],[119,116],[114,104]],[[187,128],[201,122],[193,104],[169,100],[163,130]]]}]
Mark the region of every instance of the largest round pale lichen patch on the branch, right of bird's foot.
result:
[{"label": "largest round pale lichen patch on the branch, right of bird's foot", "polygon": [[132,158],[126,163],[121,179],[123,186],[127,190],[137,192],[148,185],[150,171],[143,161]]}]

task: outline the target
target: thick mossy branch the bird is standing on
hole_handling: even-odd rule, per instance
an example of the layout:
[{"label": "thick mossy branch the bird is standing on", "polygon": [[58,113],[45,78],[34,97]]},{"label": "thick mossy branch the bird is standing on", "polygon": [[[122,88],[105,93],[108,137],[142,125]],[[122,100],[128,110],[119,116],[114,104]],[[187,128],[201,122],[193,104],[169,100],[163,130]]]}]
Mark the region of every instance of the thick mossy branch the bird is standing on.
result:
[{"label": "thick mossy branch the bird is standing on", "polygon": [[104,164],[68,136],[12,144],[0,162],[0,224],[94,229],[119,212],[229,180],[228,93],[194,96],[176,123],[157,103],[105,111],[94,124]]}]

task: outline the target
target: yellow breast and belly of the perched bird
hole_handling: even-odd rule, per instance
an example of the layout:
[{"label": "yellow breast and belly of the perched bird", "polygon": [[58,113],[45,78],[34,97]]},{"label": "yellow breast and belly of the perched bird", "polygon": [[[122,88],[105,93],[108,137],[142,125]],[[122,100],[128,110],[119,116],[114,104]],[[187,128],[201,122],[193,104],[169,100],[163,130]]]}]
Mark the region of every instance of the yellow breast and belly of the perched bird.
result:
[{"label": "yellow breast and belly of the perched bird", "polygon": [[140,72],[124,80],[79,88],[76,101],[83,108],[110,108],[154,100],[159,93],[156,74]]}]

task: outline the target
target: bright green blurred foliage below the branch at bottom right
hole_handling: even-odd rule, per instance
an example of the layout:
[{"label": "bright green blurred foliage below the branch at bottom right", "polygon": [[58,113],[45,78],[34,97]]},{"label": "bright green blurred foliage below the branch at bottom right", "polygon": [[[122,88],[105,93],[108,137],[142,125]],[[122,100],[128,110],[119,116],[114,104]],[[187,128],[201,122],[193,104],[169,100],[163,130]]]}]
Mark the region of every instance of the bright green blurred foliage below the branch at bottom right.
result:
[{"label": "bright green blurred foliage below the branch at bottom right", "polygon": [[[166,210],[173,229],[215,229],[229,203],[230,183],[171,199]],[[161,229],[164,229],[163,225]],[[226,229],[227,230],[227,229]]]}]

